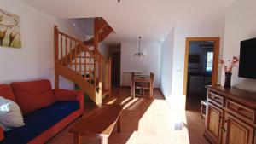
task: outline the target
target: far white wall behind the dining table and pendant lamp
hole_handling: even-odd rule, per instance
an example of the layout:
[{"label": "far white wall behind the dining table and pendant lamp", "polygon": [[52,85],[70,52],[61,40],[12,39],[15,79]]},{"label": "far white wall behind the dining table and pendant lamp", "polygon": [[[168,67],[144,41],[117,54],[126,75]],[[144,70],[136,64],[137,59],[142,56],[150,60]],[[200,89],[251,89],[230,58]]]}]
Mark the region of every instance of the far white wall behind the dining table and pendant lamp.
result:
[{"label": "far white wall behind the dining table and pendant lamp", "polygon": [[146,56],[134,57],[138,51],[138,43],[121,44],[121,85],[123,85],[124,72],[143,72],[149,75],[154,72],[154,87],[160,86],[160,44],[142,43],[141,48]]}]

